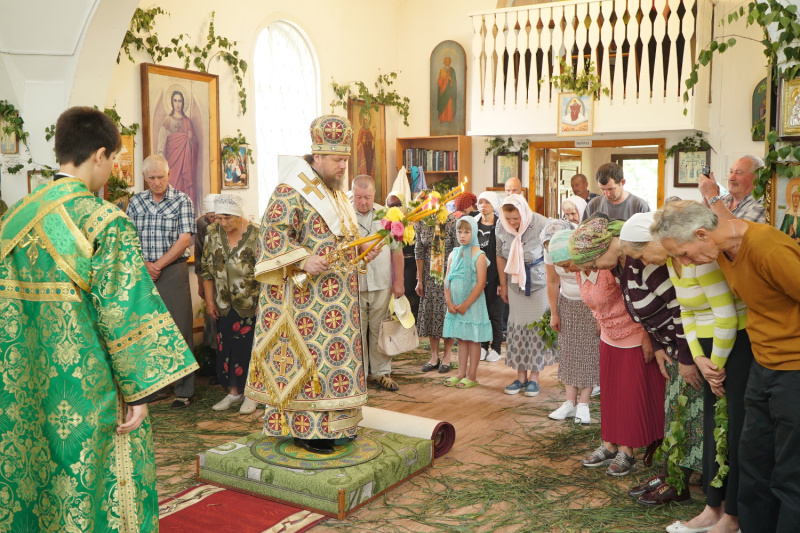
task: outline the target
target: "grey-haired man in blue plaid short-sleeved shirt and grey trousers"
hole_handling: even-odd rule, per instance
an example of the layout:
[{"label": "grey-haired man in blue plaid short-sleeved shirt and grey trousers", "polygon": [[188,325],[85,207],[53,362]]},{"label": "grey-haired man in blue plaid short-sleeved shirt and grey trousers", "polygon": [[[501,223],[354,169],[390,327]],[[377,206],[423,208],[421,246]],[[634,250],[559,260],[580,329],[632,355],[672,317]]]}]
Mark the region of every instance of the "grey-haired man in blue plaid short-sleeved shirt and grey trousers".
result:
[{"label": "grey-haired man in blue plaid short-sleeved shirt and grey trousers", "polygon": [[[148,190],[137,193],[128,204],[128,216],[139,232],[145,266],[153,278],[183,338],[192,342],[192,296],[189,290],[189,244],[196,233],[194,207],[188,195],[169,185],[169,165],[160,155],[144,160],[144,180]],[[160,391],[160,398],[167,396]],[[173,409],[192,403],[194,373],[175,382]]]}]

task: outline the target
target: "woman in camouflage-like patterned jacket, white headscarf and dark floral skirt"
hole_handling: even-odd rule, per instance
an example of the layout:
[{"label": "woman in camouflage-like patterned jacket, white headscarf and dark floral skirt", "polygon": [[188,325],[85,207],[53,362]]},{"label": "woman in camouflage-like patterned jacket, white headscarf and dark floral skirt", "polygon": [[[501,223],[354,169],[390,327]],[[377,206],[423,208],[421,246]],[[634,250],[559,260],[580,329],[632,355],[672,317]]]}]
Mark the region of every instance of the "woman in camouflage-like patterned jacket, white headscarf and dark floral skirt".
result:
[{"label": "woman in camouflage-like patterned jacket, white headscarf and dark floral skirt", "polygon": [[240,413],[256,410],[244,397],[255,334],[260,284],[255,280],[258,230],[247,223],[242,199],[220,194],[214,201],[217,222],[208,227],[203,249],[206,313],[217,319],[217,376],[228,391],[212,409],[224,411],[244,402]]}]

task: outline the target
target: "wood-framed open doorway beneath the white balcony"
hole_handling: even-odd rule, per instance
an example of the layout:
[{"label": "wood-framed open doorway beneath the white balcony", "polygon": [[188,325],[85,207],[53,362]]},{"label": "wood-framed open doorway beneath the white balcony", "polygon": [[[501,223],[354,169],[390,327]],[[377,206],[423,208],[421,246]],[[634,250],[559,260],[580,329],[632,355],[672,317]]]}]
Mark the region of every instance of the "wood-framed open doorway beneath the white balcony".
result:
[{"label": "wood-framed open doorway beneath the white balcony", "polygon": [[665,139],[593,140],[590,146],[576,146],[578,143],[530,143],[531,209],[558,218],[561,201],[572,194],[572,176],[584,174],[589,189],[599,193],[594,175],[600,165],[609,162],[623,167],[625,189],[644,198],[651,209],[664,203]]}]

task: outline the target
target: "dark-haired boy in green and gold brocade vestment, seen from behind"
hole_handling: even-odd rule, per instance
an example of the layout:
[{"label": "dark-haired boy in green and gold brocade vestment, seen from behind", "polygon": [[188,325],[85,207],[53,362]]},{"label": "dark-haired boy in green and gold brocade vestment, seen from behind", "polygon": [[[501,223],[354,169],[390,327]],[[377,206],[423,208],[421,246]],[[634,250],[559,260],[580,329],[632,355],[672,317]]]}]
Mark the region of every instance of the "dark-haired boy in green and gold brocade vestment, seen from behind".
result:
[{"label": "dark-haired boy in green and gold brocade vestment, seen from behind", "polygon": [[146,402],[197,363],[136,228],[92,194],[113,122],[69,109],[55,145],[61,172],[0,226],[0,533],[158,531]]}]

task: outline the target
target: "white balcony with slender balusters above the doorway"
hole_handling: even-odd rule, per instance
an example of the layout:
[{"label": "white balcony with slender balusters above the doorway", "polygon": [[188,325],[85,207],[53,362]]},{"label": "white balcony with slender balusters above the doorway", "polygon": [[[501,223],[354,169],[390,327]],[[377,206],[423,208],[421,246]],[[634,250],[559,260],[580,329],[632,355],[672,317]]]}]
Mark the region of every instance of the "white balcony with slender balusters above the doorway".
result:
[{"label": "white balcony with slender balusters above the doorway", "polygon": [[595,102],[596,132],[705,129],[708,106],[695,104],[707,101],[708,69],[689,102],[682,95],[711,16],[709,0],[574,0],[472,14],[470,133],[555,133],[560,59],[577,72],[591,61],[610,90]]}]

